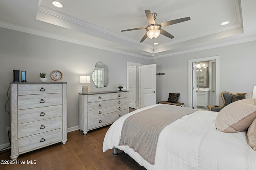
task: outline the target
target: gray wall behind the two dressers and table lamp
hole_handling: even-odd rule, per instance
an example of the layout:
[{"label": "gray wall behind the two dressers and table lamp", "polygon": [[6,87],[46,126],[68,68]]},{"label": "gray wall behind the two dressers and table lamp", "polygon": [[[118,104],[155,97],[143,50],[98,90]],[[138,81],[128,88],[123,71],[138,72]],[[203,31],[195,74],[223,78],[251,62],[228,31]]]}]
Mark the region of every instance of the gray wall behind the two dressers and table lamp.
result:
[{"label": "gray wall behind the two dressers and table lamp", "polygon": [[[80,75],[92,75],[99,61],[108,66],[109,83],[105,88],[96,88],[91,81],[89,92],[119,90],[126,84],[127,62],[149,64],[150,61],[104,51],[10,29],[0,28],[0,149],[9,143],[6,127],[10,127],[10,115],[4,111],[8,100],[7,90],[13,81],[13,71],[26,71],[28,82],[40,82],[40,72],[46,73],[48,82],[52,70],[61,70],[63,82],[67,82],[68,128],[78,126],[78,93],[82,92]],[[118,64],[117,64],[118,63]],[[21,78],[21,77],[20,77]],[[10,92],[8,94],[10,96]],[[7,103],[10,112],[10,100]],[[1,147],[2,145],[2,147]]]}]

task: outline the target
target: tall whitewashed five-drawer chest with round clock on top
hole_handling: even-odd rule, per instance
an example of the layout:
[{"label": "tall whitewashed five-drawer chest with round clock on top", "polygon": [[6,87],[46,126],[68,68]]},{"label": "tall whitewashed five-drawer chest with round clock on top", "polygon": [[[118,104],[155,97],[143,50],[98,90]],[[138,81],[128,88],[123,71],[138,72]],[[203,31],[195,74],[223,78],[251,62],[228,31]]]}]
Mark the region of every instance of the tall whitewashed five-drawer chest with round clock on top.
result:
[{"label": "tall whitewashed five-drawer chest with round clock on top", "polygon": [[66,143],[66,83],[11,83],[11,156]]}]

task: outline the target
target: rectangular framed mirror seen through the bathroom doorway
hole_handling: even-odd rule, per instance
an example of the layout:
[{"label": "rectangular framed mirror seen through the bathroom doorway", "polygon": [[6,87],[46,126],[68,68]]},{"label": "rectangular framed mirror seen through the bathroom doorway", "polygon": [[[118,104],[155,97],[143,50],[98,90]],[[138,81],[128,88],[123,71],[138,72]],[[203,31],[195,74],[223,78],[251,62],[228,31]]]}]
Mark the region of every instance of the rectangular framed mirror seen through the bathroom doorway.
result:
[{"label": "rectangular framed mirror seen through the bathroom doorway", "polygon": [[208,67],[196,68],[196,85],[198,87],[209,87],[208,86]]}]

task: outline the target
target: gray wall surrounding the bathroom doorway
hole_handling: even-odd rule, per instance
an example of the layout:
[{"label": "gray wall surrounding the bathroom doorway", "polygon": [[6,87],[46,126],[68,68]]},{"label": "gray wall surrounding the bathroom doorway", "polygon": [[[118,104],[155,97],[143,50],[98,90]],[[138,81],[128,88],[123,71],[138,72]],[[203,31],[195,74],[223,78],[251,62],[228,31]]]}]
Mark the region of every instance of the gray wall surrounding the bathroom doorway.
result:
[{"label": "gray wall surrounding the bathroom doorway", "polygon": [[220,93],[252,94],[256,85],[255,47],[256,41],[250,41],[150,61],[156,63],[156,72],[165,72],[164,76],[157,76],[157,102],[167,100],[169,93],[180,93],[178,102],[188,107],[188,60],[211,56],[220,56]]}]

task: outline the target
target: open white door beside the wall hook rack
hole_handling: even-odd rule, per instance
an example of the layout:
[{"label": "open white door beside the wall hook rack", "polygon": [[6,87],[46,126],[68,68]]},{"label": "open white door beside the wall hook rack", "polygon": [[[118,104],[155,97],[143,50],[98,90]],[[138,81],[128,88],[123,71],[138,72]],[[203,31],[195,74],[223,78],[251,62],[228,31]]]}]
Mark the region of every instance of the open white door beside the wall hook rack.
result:
[{"label": "open white door beside the wall hook rack", "polygon": [[156,64],[140,66],[140,108],[156,104]]}]

